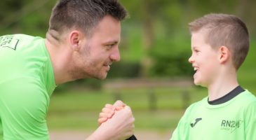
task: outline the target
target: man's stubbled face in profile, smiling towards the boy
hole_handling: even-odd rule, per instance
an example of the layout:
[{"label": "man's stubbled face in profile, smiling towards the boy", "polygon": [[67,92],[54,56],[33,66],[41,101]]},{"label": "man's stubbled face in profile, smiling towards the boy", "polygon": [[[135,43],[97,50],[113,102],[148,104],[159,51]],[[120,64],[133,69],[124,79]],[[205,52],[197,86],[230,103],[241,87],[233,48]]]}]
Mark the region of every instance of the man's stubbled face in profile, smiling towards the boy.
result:
[{"label": "man's stubbled face in profile, smiling towards the boy", "polygon": [[121,34],[120,21],[105,16],[92,36],[81,41],[81,49],[76,52],[73,60],[73,78],[105,79],[112,62],[120,60],[119,41]]}]

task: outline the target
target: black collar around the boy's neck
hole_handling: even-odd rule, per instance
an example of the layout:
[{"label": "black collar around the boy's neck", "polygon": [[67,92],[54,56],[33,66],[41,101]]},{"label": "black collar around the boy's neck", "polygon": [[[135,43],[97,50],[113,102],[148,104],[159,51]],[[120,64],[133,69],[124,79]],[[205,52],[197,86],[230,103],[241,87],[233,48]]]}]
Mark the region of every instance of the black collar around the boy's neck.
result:
[{"label": "black collar around the boy's neck", "polygon": [[243,89],[243,87],[238,85],[236,88],[234,88],[234,90],[232,90],[228,94],[225,94],[223,97],[220,97],[219,99],[215,99],[213,101],[209,101],[209,98],[208,98],[208,103],[211,104],[211,105],[222,104],[224,102],[228,102],[229,100],[233,99],[238,94],[240,94],[241,92],[244,92],[244,91],[245,90]]}]

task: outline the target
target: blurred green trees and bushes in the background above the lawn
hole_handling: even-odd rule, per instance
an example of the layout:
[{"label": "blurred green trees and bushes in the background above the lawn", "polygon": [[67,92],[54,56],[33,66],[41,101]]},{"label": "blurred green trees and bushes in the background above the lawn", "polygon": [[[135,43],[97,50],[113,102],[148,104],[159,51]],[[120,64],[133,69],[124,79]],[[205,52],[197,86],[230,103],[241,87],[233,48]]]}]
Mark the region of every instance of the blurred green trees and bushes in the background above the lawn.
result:
[{"label": "blurred green trees and bushes in the background above the lawn", "polygon": [[[255,37],[256,1],[253,0],[120,0],[130,13],[123,22],[121,64],[113,77],[188,76],[191,67],[187,24],[208,13],[238,15]],[[0,34],[45,36],[56,0],[3,0],[0,4]],[[179,63],[177,63],[179,61]],[[112,75],[112,73],[111,73]]]}]

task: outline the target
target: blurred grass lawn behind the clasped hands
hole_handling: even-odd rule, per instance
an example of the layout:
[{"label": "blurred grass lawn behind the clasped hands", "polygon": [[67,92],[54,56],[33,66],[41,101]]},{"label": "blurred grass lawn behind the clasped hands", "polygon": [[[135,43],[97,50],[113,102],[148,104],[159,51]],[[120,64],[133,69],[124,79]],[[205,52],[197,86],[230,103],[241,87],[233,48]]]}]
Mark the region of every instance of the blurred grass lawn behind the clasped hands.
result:
[{"label": "blurred grass lawn behind the clasped hands", "polygon": [[[195,87],[188,89],[191,102],[206,96],[206,92]],[[156,106],[150,108],[149,94],[154,93]],[[133,109],[136,130],[173,130],[184,113],[181,89],[156,88],[119,90],[119,99]],[[196,96],[194,96],[196,92]],[[94,130],[101,109],[114,103],[116,95],[111,90],[66,91],[53,94],[48,111],[50,130]]]}]

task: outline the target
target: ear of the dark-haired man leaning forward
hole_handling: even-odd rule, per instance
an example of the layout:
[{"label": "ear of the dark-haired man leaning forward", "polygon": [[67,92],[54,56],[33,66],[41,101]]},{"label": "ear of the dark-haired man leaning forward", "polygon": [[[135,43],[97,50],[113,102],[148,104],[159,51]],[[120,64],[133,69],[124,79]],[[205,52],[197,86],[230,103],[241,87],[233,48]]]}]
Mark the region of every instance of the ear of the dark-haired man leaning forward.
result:
[{"label": "ear of the dark-haired man leaning forward", "polygon": [[79,43],[81,43],[81,32],[80,31],[77,31],[77,30],[74,30],[74,31],[71,31],[70,34],[69,34],[69,43],[71,45],[71,48],[75,51],[78,51],[79,48],[80,48],[80,45]]}]

